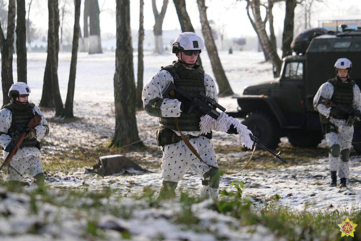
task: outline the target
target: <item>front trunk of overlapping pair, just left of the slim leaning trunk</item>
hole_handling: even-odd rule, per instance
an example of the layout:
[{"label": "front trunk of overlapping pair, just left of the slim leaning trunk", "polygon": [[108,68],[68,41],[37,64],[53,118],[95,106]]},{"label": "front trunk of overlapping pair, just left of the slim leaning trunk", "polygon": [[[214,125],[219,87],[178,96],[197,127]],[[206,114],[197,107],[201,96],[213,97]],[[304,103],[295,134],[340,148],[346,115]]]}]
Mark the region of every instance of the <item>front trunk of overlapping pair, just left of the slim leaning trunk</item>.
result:
[{"label": "front trunk of overlapping pair, just left of the slim leaning trunk", "polygon": [[[48,9],[49,9],[49,46],[48,53],[50,53],[50,73],[51,73],[51,81],[53,87],[54,94],[54,102],[55,102],[55,116],[60,116],[64,111],[63,102],[61,100],[60,89],[59,89],[59,80],[58,80],[58,57],[57,51],[59,48],[59,39],[57,39],[58,46],[56,44],[56,25],[58,25],[56,19],[56,15],[59,14],[58,8],[58,0],[48,0]],[[57,13],[56,13],[57,12]],[[58,29],[58,28],[57,28]]]}]

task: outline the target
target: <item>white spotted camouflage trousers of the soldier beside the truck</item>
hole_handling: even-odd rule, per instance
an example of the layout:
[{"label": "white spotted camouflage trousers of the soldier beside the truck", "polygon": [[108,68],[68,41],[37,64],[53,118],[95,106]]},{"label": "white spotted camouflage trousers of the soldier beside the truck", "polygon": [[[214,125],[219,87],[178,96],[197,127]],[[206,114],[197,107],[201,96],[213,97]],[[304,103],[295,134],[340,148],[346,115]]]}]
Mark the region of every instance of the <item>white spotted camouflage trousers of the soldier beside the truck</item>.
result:
[{"label": "white spotted camouflage trousers of the soldier beside the truck", "polygon": [[[345,149],[351,149],[353,126],[339,125],[337,131],[338,133],[330,132],[326,134],[326,141],[329,147],[338,144],[340,145],[340,151]],[[338,171],[338,176],[340,178],[349,178],[349,163],[350,161],[343,162],[340,156],[334,157],[331,153],[329,153],[330,171]]]}]

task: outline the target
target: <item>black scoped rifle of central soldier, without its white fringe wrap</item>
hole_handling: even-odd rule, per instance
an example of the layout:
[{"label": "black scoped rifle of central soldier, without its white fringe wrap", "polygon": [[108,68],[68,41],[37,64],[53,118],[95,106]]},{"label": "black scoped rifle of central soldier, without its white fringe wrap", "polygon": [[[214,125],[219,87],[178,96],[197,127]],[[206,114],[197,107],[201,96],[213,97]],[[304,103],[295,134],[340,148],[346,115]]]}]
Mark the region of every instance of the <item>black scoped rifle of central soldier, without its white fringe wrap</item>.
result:
[{"label": "black scoped rifle of central soldier, without its white fringe wrap", "polygon": [[[221,115],[216,110],[217,108],[220,109],[223,112],[226,111],[226,108],[224,108],[220,104],[218,104],[215,99],[206,96],[204,94],[204,92],[199,91],[199,96],[200,97],[192,98],[191,96],[188,95],[187,91],[184,91],[182,88],[177,87],[176,85],[174,85],[173,82],[170,82],[168,84],[166,89],[162,92],[162,95],[164,97],[166,97],[166,98],[174,99],[175,98],[175,92],[177,92],[179,95],[182,95],[187,100],[190,100],[193,103],[193,106],[196,108],[195,111],[197,111],[197,112],[200,111],[200,112],[204,113],[205,115],[209,115],[213,119],[217,120],[218,117]],[[190,108],[189,112],[191,112],[191,111],[192,111],[192,108]],[[267,147],[262,145],[262,143],[257,139],[257,137],[255,137],[255,136],[253,136],[251,134],[250,134],[250,137],[251,137],[251,140],[253,142],[255,142],[259,147],[261,147],[265,151],[268,151],[269,153],[274,155],[274,158],[277,158],[281,162],[287,164],[287,162],[280,157],[280,155],[282,154],[281,151],[278,152],[278,154],[275,154],[273,151],[271,151],[270,149],[268,149]]]}]

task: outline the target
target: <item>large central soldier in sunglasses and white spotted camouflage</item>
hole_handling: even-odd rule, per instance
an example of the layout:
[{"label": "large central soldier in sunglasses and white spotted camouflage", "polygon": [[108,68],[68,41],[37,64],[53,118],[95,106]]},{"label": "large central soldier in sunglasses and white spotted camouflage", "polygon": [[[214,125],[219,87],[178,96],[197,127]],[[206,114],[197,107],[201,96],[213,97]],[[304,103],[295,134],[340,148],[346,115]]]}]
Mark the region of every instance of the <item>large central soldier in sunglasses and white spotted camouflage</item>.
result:
[{"label": "large central soldier in sunglasses and white spotted camouflage", "polygon": [[[162,67],[148,81],[142,92],[144,110],[148,115],[159,117],[161,127],[157,130],[157,142],[162,146],[163,152],[161,164],[163,183],[159,191],[161,198],[174,196],[179,180],[190,167],[204,177],[201,197],[216,199],[218,195],[220,174],[218,169],[214,168],[218,167],[218,164],[211,140],[212,132],[206,134],[200,132],[200,117],[203,114],[195,112],[192,102],[177,93],[174,99],[162,96],[168,84],[173,82],[187,91],[192,98],[203,91],[206,96],[218,101],[213,79],[197,64],[203,48],[203,40],[195,33],[179,34],[172,50],[178,60]],[[179,129],[205,163],[188,149],[180,136],[174,117],[178,117]],[[234,128],[230,128],[229,133],[237,132]],[[247,137],[249,138],[248,135]]]}]

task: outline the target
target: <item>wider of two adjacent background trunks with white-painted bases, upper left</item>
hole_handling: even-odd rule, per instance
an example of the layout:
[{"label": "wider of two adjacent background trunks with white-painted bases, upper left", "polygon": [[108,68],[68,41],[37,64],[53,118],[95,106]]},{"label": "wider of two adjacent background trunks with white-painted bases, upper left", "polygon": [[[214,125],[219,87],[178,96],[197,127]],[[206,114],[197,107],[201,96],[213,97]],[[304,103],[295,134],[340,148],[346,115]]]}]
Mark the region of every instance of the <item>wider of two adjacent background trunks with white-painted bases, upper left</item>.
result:
[{"label": "wider of two adjacent background trunks with white-painted bases, upper left", "polygon": [[100,38],[99,4],[91,0],[89,5],[89,53],[102,53]]}]

